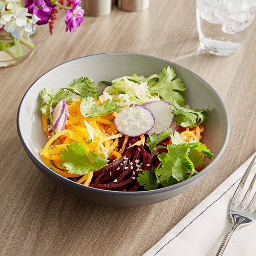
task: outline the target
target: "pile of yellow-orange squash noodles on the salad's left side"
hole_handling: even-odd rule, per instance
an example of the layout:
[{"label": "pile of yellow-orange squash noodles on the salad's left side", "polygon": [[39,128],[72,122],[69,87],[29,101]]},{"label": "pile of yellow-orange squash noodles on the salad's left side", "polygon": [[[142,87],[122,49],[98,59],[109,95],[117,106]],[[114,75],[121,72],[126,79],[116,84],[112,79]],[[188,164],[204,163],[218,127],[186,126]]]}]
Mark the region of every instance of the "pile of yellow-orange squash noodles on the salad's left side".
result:
[{"label": "pile of yellow-orange squash noodles on the salad's left side", "polygon": [[[105,157],[99,145],[100,141],[109,153],[109,160],[119,159],[122,157],[128,137],[125,136],[119,151],[119,138],[124,136],[116,130],[113,122],[115,113],[112,113],[108,116],[86,119],[87,123],[95,130],[94,140],[89,140],[87,128],[84,124],[84,116],[82,116],[80,112],[80,103],[80,99],[73,99],[73,103],[69,105],[69,114],[65,128],[55,135],[49,133],[49,125],[47,124],[46,116],[42,114],[44,134],[48,141],[44,148],[41,149],[40,155],[44,164],[59,175],[72,178],[77,183],[88,186],[92,180],[93,172],[89,172],[87,175],[69,173],[67,169],[61,166],[61,150],[67,148],[67,145],[71,142],[76,141],[81,143],[87,149],[87,152],[92,151],[101,157]],[[57,139],[59,144],[57,143]]]}]

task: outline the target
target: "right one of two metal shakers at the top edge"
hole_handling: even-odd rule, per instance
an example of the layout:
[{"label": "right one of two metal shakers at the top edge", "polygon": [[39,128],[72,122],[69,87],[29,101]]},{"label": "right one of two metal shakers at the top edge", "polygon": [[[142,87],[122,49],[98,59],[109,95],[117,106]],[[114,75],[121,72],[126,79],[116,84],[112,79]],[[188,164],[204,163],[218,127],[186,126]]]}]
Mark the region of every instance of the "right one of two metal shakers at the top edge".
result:
[{"label": "right one of two metal shakers at the top edge", "polygon": [[116,6],[119,9],[128,12],[137,12],[148,9],[150,0],[116,0]]}]

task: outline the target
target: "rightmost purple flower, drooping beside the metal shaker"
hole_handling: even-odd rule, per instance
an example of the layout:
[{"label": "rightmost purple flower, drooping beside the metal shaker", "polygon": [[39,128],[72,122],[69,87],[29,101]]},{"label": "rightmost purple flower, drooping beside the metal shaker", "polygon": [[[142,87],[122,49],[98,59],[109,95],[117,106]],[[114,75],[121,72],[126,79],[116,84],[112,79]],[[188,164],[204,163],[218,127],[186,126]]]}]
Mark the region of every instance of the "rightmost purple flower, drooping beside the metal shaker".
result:
[{"label": "rightmost purple flower, drooping beside the metal shaker", "polygon": [[66,29],[65,32],[68,30],[71,32],[76,31],[76,27],[79,27],[84,20],[84,10],[81,9],[79,4],[81,3],[80,0],[72,0],[72,9],[68,9],[64,19],[66,20]]}]

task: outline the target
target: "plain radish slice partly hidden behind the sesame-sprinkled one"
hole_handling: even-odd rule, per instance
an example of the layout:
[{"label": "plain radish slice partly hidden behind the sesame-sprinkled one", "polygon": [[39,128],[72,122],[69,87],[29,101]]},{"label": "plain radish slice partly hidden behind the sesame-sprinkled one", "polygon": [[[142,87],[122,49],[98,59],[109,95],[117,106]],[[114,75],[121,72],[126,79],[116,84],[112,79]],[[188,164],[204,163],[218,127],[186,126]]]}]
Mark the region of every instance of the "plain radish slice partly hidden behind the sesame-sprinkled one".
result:
[{"label": "plain radish slice partly hidden behind the sesame-sprinkled one", "polygon": [[172,113],[169,102],[162,100],[147,102],[143,104],[143,107],[151,111],[155,118],[154,126],[148,131],[148,134],[152,134],[153,132],[160,134],[162,131],[172,126],[174,114]]}]

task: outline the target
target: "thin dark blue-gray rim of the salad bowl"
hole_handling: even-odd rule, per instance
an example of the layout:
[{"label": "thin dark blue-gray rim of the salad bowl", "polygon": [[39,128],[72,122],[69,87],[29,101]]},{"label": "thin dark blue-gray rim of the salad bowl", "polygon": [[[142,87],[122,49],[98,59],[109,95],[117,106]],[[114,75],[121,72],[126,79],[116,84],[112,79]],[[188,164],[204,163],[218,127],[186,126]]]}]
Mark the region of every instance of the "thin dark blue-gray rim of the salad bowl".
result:
[{"label": "thin dark blue-gray rim of the salad bowl", "polygon": [[[154,190],[146,190],[146,191],[134,191],[134,192],[129,192],[129,191],[125,191],[125,192],[122,192],[122,191],[113,191],[113,190],[108,190],[108,189],[98,189],[98,188],[93,188],[93,187],[90,187],[90,186],[84,186],[83,184],[79,184],[79,183],[76,183],[75,181],[73,180],[69,180],[65,177],[62,177],[61,175],[59,175],[58,173],[56,172],[53,172],[51,169],[49,169],[47,166],[45,166],[43,163],[41,163],[40,161],[38,161],[38,159],[34,156],[34,154],[29,150],[29,148],[27,147],[23,137],[22,137],[22,134],[20,132],[20,125],[19,125],[19,116],[20,116],[20,109],[21,109],[21,106],[23,104],[23,101],[25,100],[26,98],[26,95],[29,93],[29,90],[32,89],[32,87],[34,86],[34,84],[39,80],[41,79],[41,77],[47,75],[47,73],[49,73],[51,70],[55,69],[56,67],[59,67],[61,65],[65,65],[67,63],[72,63],[73,61],[77,61],[79,59],[82,59],[82,58],[93,58],[94,56],[100,56],[100,55],[139,55],[139,56],[144,56],[144,57],[147,57],[147,58],[152,58],[152,59],[158,59],[160,61],[166,61],[166,62],[169,62],[170,65],[175,65],[183,70],[186,70],[187,72],[191,73],[192,75],[194,76],[197,76],[199,79],[201,79],[202,81],[204,81],[205,84],[207,84],[207,86],[213,91],[213,93],[215,93],[215,95],[218,97],[222,107],[224,108],[224,111],[226,113],[226,121],[227,121],[227,130],[226,130],[226,135],[225,135],[225,140],[224,140],[224,143],[220,149],[220,151],[218,152],[218,154],[214,157],[214,159],[204,168],[202,169],[200,172],[198,172],[198,174],[192,176],[191,178],[189,178],[188,180],[184,180],[180,183],[177,183],[175,185],[172,185],[172,186],[168,186],[168,187],[164,187],[164,188],[160,188],[160,189],[154,189]],[[26,90],[26,93],[23,95],[22,99],[21,99],[21,102],[20,102],[20,105],[19,105],[19,108],[17,110],[17,118],[16,118],[16,125],[17,125],[17,133],[18,133],[18,136],[20,138],[20,142],[21,144],[23,145],[23,148],[25,149],[26,151],[26,154],[28,154],[29,158],[32,160],[32,162],[35,164],[35,166],[44,174],[44,172],[46,172],[48,175],[52,176],[52,175],[56,175],[57,177],[59,176],[59,179],[61,179],[64,183],[66,183],[67,185],[70,185],[70,182],[73,184],[73,186],[77,186],[77,188],[80,188],[80,189],[84,189],[84,191],[86,192],[86,190],[91,190],[91,191],[97,191],[97,192],[102,192],[102,193],[107,193],[109,195],[113,195],[113,196],[117,196],[117,195],[122,195],[122,196],[131,196],[131,195],[140,195],[140,196],[148,196],[148,195],[155,195],[155,194],[161,194],[161,193],[165,193],[167,191],[172,191],[174,189],[178,189],[182,186],[186,186],[188,183],[191,183],[192,181],[194,180],[197,180],[199,179],[201,176],[204,176],[208,171],[209,169],[211,169],[217,162],[218,160],[221,158],[224,150],[226,149],[227,147],[227,143],[228,143],[228,140],[229,140],[229,135],[230,135],[230,119],[229,119],[229,115],[228,115],[228,112],[227,112],[227,108],[226,106],[224,105],[224,102],[222,101],[221,97],[218,95],[218,93],[215,91],[215,89],[210,85],[208,84],[207,81],[205,81],[204,79],[202,79],[200,76],[198,76],[197,74],[195,74],[194,72],[186,69],[185,67],[177,64],[177,63],[174,63],[172,61],[169,61],[167,59],[164,59],[164,58],[159,58],[159,57],[155,57],[155,56],[152,56],[152,55],[146,55],[146,54],[139,54],[139,53],[131,53],[131,52],[109,52],[109,53],[98,53],[98,54],[92,54],[92,55],[86,55],[86,56],[83,56],[83,57],[79,57],[79,58],[75,58],[75,59],[72,59],[70,61],[66,61],[62,64],[59,64],[55,67],[53,67],[52,69],[48,70],[46,73],[44,73],[43,75],[41,75],[38,79],[36,79],[34,81],[34,83],[28,88],[28,90]],[[44,172],[43,172],[43,171]]]}]

